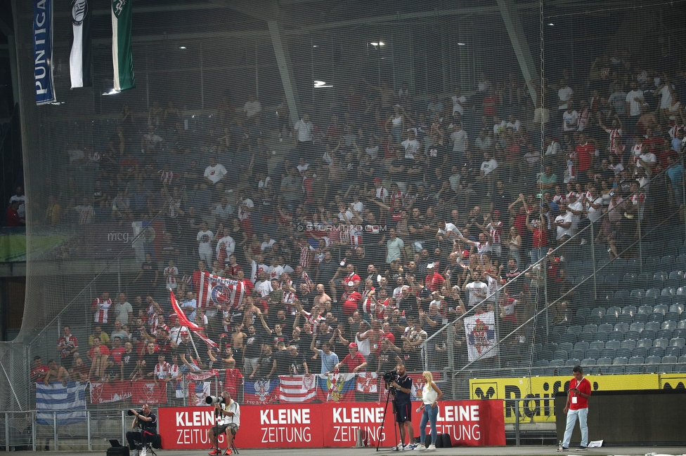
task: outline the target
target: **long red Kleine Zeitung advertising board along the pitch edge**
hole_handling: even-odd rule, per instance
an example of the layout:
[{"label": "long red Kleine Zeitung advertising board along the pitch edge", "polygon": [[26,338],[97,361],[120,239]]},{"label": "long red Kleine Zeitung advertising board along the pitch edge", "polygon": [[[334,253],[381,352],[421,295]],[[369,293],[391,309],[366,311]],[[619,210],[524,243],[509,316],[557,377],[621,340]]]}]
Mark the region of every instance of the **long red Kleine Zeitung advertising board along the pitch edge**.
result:
[{"label": "long red Kleine Zeitung advertising board along the pitch edge", "polygon": [[[384,403],[321,403],[243,405],[238,448],[323,448],[354,446],[357,430],[369,436],[369,444],[395,445],[394,417]],[[420,403],[413,403],[415,436],[420,435]],[[503,401],[441,401],[437,431],[450,434],[455,446],[505,445]],[[159,429],[164,449],[209,448],[206,431],[214,424],[212,409],[205,407],[160,408]],[[384,428],[381,429],[382,421]],[[249,431],[246,431],[249,429]],[[427,425],[427,434],[430,433]],[[220,439],[220,447],[226,445]]]}]

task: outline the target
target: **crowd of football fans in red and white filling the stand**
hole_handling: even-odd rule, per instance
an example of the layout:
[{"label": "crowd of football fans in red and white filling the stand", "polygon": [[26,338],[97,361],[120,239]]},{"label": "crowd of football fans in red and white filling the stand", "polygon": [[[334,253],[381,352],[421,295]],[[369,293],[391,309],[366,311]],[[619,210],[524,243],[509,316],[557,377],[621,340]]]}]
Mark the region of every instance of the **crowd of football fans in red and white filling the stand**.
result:
[{"label": "crowd of football fans in red and white filling the stand", "polygon": [[[460,365],[463,327],[427,337],[482,301],[510,333],[544,285],[549,302],[567,293],[564,262],[590,230],[550,249],[595,224],[610,257],[630,257],[638,220],[678,213],[685,72],[603,55],[587,77],[564,69],[547,81],[548,106],[536,109],[512,74],[470,89],[426,99],[362,81],[328,116],[295,125],[285,101],[263,109],[254,95],[242,109],[221,100],[207,128],[189,127],[172,102],[124,106],[108,150],[68,147],[46,224],[158,220],[164,239],[145,249],[129,295],[93,302],[88,347],[64,328],[61,366],[37,380],[379,372],[398,361],[417,371],[448,353]],[[537,264],[503,288],[544,258],[545,279]],[[245,293],[199,303],[203,271]],[[169,288],[218,349],[179,326]],[[553,309],[556,322],[568,307]],[[509,340],[531,344],[526,332]]]}]

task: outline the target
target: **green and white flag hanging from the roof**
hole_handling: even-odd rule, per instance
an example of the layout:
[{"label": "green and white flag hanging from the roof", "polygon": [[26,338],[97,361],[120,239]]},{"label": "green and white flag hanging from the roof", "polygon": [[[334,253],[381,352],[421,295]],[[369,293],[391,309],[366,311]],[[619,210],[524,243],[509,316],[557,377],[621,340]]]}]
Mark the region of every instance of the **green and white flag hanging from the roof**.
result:
[{"label": "green and white flag hanging from the roof", "polygon": [[115,90],[136,87],[134,58],[131,55],[132,0],[112,0],[112,63],[115,67]]}]

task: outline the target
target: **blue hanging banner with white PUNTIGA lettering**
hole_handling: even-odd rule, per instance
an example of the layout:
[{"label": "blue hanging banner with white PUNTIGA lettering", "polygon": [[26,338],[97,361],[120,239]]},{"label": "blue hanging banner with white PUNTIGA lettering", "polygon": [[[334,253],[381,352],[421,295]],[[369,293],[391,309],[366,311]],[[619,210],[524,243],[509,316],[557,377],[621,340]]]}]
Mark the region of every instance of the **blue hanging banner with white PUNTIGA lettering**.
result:
[{"label": "blue hanging banner with white PUNTIGA lettering", "polygon": [[53,82],[53,2],[33,2],[33,57],[36,104],[56,102]]}]

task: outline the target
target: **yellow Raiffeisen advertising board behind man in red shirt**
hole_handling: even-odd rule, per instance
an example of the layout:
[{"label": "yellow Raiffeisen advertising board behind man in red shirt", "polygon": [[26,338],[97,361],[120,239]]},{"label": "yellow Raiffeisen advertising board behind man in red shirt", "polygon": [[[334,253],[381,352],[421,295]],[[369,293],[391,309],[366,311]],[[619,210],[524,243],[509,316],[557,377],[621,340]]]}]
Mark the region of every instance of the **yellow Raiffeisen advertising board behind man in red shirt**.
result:
[{"label": "yellow Raiffeisen advertising board behind man in red shirt", "polygon": [[[664,377],[665,380],[661,380]],[[668,378],[666,378],[668,377]],[[593,391],[629,391],[676,388],[686,384],[686,375],[587,375]],[[555,422],[555,394],[569,389],[566,377],[485,378],[470,380],[470,398],[505,400],[505,422],[514,422],[519,408],[520,422]],[[512,401],[512,399],[529,399]],[[510,400],[510,401],[508,401]]]}]

